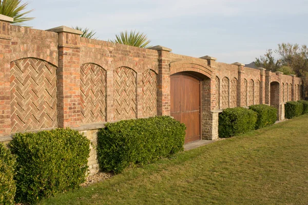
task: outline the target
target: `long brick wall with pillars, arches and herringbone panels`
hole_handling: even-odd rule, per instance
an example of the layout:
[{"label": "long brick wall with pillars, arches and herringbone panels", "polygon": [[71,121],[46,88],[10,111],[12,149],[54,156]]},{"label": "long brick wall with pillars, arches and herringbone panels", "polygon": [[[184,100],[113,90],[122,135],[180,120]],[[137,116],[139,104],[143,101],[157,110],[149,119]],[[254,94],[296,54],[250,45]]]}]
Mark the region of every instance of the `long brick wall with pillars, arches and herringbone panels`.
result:
[{"label": "long brick wall with pillars, arches and herringbone panels", "polygon": [[[162,46],[81,38],[68,27],[43,31],[8,19],[0,24],[0,141],[15,132],[72,127],[95,145],[105,122],[170,115],[170,75],[178,72],[201,79],[204,139],[218,138],[222,109],[268,104],[283,119],[284,103],[303,97],[296,76],[174,54]],[[98,171],[95,155],[92,149],[92,173]]]}]

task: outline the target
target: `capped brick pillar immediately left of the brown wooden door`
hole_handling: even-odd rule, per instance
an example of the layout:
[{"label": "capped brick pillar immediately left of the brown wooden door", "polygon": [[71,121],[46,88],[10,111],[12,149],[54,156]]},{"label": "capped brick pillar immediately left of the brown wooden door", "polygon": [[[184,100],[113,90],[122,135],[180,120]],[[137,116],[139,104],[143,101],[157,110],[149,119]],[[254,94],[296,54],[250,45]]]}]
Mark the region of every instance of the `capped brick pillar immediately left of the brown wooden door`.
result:
[{"label": "capped brick pillar immediately left of the brown wooden door", "polygon": [[150,49],[158,51],[157,114],[170,115],[169,54],[172,50],[163,46],[154,46],[151,47]]}]

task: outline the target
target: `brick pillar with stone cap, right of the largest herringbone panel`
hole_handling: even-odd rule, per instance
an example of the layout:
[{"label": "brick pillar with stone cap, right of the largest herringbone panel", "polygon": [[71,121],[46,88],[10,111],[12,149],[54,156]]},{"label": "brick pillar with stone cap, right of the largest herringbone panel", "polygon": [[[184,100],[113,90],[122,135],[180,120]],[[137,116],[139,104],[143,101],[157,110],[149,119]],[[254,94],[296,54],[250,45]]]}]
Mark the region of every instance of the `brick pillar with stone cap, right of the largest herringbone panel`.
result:
[{"label": "brick pillar with stone cap, right of the largest herringbone panel", "polygon": [[59,34],[57,68],[58,127],[80,126],[80,35],[82,31],[60,26],[48,31]]}]

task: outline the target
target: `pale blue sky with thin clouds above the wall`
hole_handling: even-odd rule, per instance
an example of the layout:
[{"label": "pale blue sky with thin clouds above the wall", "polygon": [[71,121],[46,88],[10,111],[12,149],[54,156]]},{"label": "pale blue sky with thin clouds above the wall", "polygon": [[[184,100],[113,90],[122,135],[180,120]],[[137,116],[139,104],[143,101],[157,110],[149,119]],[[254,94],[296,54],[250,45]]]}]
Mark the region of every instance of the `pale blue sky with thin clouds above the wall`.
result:
[{"label": "pale blue sky with thin clouds above the wall", "polygon": [[35,29],[88,27],[101,40],[141,31],[172,52],[248,64],[280,43],[308,45],[307,0],[31,0]]}]

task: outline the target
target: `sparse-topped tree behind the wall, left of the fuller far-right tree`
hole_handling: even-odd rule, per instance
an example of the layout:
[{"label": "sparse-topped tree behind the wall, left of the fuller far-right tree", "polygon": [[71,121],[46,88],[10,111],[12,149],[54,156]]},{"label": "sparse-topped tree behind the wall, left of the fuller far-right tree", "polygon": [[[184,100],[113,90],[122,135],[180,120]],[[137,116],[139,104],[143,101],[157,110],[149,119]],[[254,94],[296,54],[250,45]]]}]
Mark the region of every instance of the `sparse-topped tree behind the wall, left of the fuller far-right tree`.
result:
[{"label": "sparse-topped tree behind the wall, left of the fuller far-right tree", "polygon": [[268,49],[264,56],[256,58],[255,64],[257,67],[265,68],[267,71],[277,71],[280,67],[280,61],[273,56],[272,49]]}]

